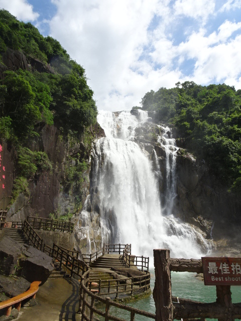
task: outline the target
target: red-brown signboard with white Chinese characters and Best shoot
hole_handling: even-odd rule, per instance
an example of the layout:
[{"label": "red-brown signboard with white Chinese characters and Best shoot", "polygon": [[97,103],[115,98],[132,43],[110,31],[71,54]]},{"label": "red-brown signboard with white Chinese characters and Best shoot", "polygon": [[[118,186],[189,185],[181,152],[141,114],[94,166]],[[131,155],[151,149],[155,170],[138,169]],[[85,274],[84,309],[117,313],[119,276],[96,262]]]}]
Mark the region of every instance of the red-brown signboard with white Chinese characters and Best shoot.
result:
[{"label": "red-brown signboard with white Chinese characters and Best shoot", "polygon": [[241,258],[202,257],[205,285],[241,285]]}]

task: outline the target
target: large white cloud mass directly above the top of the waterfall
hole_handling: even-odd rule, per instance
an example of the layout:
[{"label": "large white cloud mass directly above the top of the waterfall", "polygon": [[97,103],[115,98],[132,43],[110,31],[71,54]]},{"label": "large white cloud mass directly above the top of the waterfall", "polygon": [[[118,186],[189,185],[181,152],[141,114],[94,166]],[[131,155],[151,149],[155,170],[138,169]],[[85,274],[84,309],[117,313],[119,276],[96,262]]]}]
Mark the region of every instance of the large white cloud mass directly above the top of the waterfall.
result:
[{"label": "large white cloud mass directly above the top of the waterfall", "polygon": [[[149,45],[148,26],[162,4],[157,0],[72,0],[68,4],[55,0],[55,4],[58,11],[50,23],[51,35],[84,66],[99,108],[119,110],[139,104],[146,92],[143,80],[148,82],[146,75],[151,69],[138,59],[143,47]],[[136,68],[138,72],[133,72]],[[105,98],[113,91],[121,96]],[[125,97],[126,93],[131,95]],[[117,102],[114,107],[110,106],[113,101]]]}]

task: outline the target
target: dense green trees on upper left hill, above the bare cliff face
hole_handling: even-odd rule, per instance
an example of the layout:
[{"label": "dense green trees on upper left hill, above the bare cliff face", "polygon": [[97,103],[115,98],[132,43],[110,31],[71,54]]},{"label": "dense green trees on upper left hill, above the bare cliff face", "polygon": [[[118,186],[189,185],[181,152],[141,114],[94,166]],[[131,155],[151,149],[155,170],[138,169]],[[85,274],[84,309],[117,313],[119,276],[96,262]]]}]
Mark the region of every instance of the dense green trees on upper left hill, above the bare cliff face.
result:
[{"label": "dense green trees on upper left hill, above the bare cliff face", "polygon": [[22,51],[27,58],[51,65],[54,74],[18,70],[0,82],[0,137],[24,142],[41,123],[55,123],[76,138],[96,121],[93,91],[84,69],[71,60],[60,43],[43,37],[30,23],[0,10],[0,52]]}]

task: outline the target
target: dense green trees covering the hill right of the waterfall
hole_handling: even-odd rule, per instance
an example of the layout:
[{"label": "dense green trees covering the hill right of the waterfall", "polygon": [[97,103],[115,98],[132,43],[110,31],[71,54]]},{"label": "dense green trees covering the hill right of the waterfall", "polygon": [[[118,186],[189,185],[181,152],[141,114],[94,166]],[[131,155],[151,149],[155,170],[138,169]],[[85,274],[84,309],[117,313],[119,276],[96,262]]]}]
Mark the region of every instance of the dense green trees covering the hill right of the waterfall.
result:
[{"label": "dense green trees covering the hill right of the waterfall", "polygon": [[204,158],[212,173],[232,191],[241,192],[241,90],[225,84],[177,83],[146,93],[144,110],[175,125],[186,147]]}]

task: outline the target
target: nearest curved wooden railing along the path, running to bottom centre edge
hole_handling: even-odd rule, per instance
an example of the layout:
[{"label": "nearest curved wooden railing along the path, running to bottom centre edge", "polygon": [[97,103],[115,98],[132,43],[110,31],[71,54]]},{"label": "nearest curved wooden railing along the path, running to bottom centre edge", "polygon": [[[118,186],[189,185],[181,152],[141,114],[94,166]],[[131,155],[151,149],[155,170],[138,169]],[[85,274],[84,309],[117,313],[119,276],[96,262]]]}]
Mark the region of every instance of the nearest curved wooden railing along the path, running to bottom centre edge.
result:
[{"label": "nearest curved wooden railing along the path, running to bottom centre edge", "polygon": [[[82,277],[80,282],[80,290],[79,290],[79,313],[81,313],[81,320],[93,321],[96,315],[100,315],[104,317],[105,320],[114,320],[114,321],[126,321],[126,319],[120,318],[121,310],[126,310],[130,312],[130,320],[135,320],[135,315],[142,315],[147,318],[155,319],[156,315],[154,313],[150,313],[147,311],[139,310],[134,307],[127,306],[125,304],[117,303],[111,300],[109,297],[102,298],[99,295],[93,294],[88,289],[89,284],[89,270],[86,271]],[[125,286],[125,285],[124,285]],[[104,305],[105,310],[102,311],[95,306],[96,303],[102,303]],[[118,309],[115,310],[114,314],[110,314],[110,307],[114,306]]]}]

